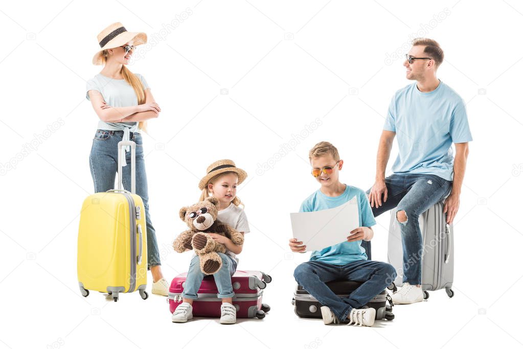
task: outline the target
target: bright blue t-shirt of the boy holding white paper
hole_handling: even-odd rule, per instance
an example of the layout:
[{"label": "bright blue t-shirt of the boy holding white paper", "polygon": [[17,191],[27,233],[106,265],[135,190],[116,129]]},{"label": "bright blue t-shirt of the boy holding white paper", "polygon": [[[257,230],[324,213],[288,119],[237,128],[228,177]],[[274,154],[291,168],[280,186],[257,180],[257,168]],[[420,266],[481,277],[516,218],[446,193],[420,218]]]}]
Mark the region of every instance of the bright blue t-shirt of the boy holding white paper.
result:
[{"label": "bright blue t-shirt of the boy holding white paper", "polygon": [[[345,204],[356,196],[358,201],[359,226],[371,227],[376,224],[369,201],[365,192],[359,188],[346,185],[345,191],[339,196],[327,196],[316,190],[311,196],[303,201],[300,212],[313,212],[338,207]],[[350,231],[347,231],[347,236]],[[337,245],[324,248],[321,251],[313,251],[311,261],[322,261],[329,264],[345,265],[350,262],[367,260],[365,249],[361,247],[361,240],[348,242],[344,241]]]}]

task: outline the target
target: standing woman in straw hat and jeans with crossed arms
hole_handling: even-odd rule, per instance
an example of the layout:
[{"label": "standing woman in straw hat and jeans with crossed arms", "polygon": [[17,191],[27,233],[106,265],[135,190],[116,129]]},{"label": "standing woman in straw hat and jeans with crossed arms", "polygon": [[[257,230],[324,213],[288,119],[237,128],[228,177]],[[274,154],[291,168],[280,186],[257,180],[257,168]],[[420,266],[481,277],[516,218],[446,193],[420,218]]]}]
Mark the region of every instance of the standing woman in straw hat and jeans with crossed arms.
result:
[{"label": "standing woman in straw hat and jeans with crossed arms", "polygon": [[[148,269],[153,275],[152,293],[168,295],[168,283],[162,275],[156,234],[149,215],[149,195],[143,159],[142,136],[146,120],[157,118],[161,109],[154,101],[144,77],[133,74],[126,65],[135,46],[147,42],[147,35],[129,32],[121,23],[115,23],[98,34],[101,50],[93,57],[93,64],[104,65],[101,72],[87,82],[86,97],[100,119],[89,156],[95,192],[113,189],[118,166],[130,161],[129,148],[118,154],[119,141],[136,143],[136,193],[142,197],[147,222]],[[127,158],[127,159],[126,159]],[[124,188],[130,188],[130,166],[123,167]]]}]

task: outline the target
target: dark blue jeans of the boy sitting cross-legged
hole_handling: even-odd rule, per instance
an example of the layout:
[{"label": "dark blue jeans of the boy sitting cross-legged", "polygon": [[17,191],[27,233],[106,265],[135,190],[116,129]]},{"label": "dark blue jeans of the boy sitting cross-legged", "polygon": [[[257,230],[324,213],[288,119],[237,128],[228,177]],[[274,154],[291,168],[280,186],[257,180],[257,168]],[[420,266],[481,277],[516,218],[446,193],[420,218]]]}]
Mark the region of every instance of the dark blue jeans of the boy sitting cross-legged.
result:
[{"label": "dark blue jeans of the boy sitting cross-legged", "polygon": [[[388,263],[361,260],[346,265],[320,261],[301,263],[294,270],[294,278],[322,305],[329,307],[338,320],[346,322],[352,309],[358,309],[380,294],[396,277],[394,267]],[[363,282],[346,298],[339,298],[325,284],[335,280]]]}]

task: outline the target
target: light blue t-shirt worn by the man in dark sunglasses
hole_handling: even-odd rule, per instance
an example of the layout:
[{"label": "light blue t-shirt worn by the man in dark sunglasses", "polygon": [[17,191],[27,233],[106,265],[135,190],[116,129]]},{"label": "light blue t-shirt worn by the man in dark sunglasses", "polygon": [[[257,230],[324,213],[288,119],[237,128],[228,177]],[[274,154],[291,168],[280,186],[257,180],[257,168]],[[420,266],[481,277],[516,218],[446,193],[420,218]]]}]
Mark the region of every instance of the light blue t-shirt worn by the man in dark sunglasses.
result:
[{"label": "light blue t-shirt worn by the man in dark sunglasses", "polygon": [[396,133],[400,154],[394,173],[436,175],[451,181],[452,143],[472,141],[463,99],[441,80],[434,91],[421,92],[416,83],[392,97],[383,127]]}]

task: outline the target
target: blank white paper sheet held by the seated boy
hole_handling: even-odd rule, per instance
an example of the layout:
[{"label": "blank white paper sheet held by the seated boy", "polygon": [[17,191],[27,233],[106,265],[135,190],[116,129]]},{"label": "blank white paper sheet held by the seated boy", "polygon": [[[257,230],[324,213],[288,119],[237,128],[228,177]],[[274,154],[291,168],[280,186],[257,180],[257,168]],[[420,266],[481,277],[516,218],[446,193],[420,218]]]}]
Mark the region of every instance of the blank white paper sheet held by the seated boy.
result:
[{"label": "blank white paper sheet held by the seated boy", "polygon": [[359,227],[357,198],[327,210],[291,213],[291,225],[292,236],[303,241],[305,251],[319,251],[347,241],[350,231]]}]

